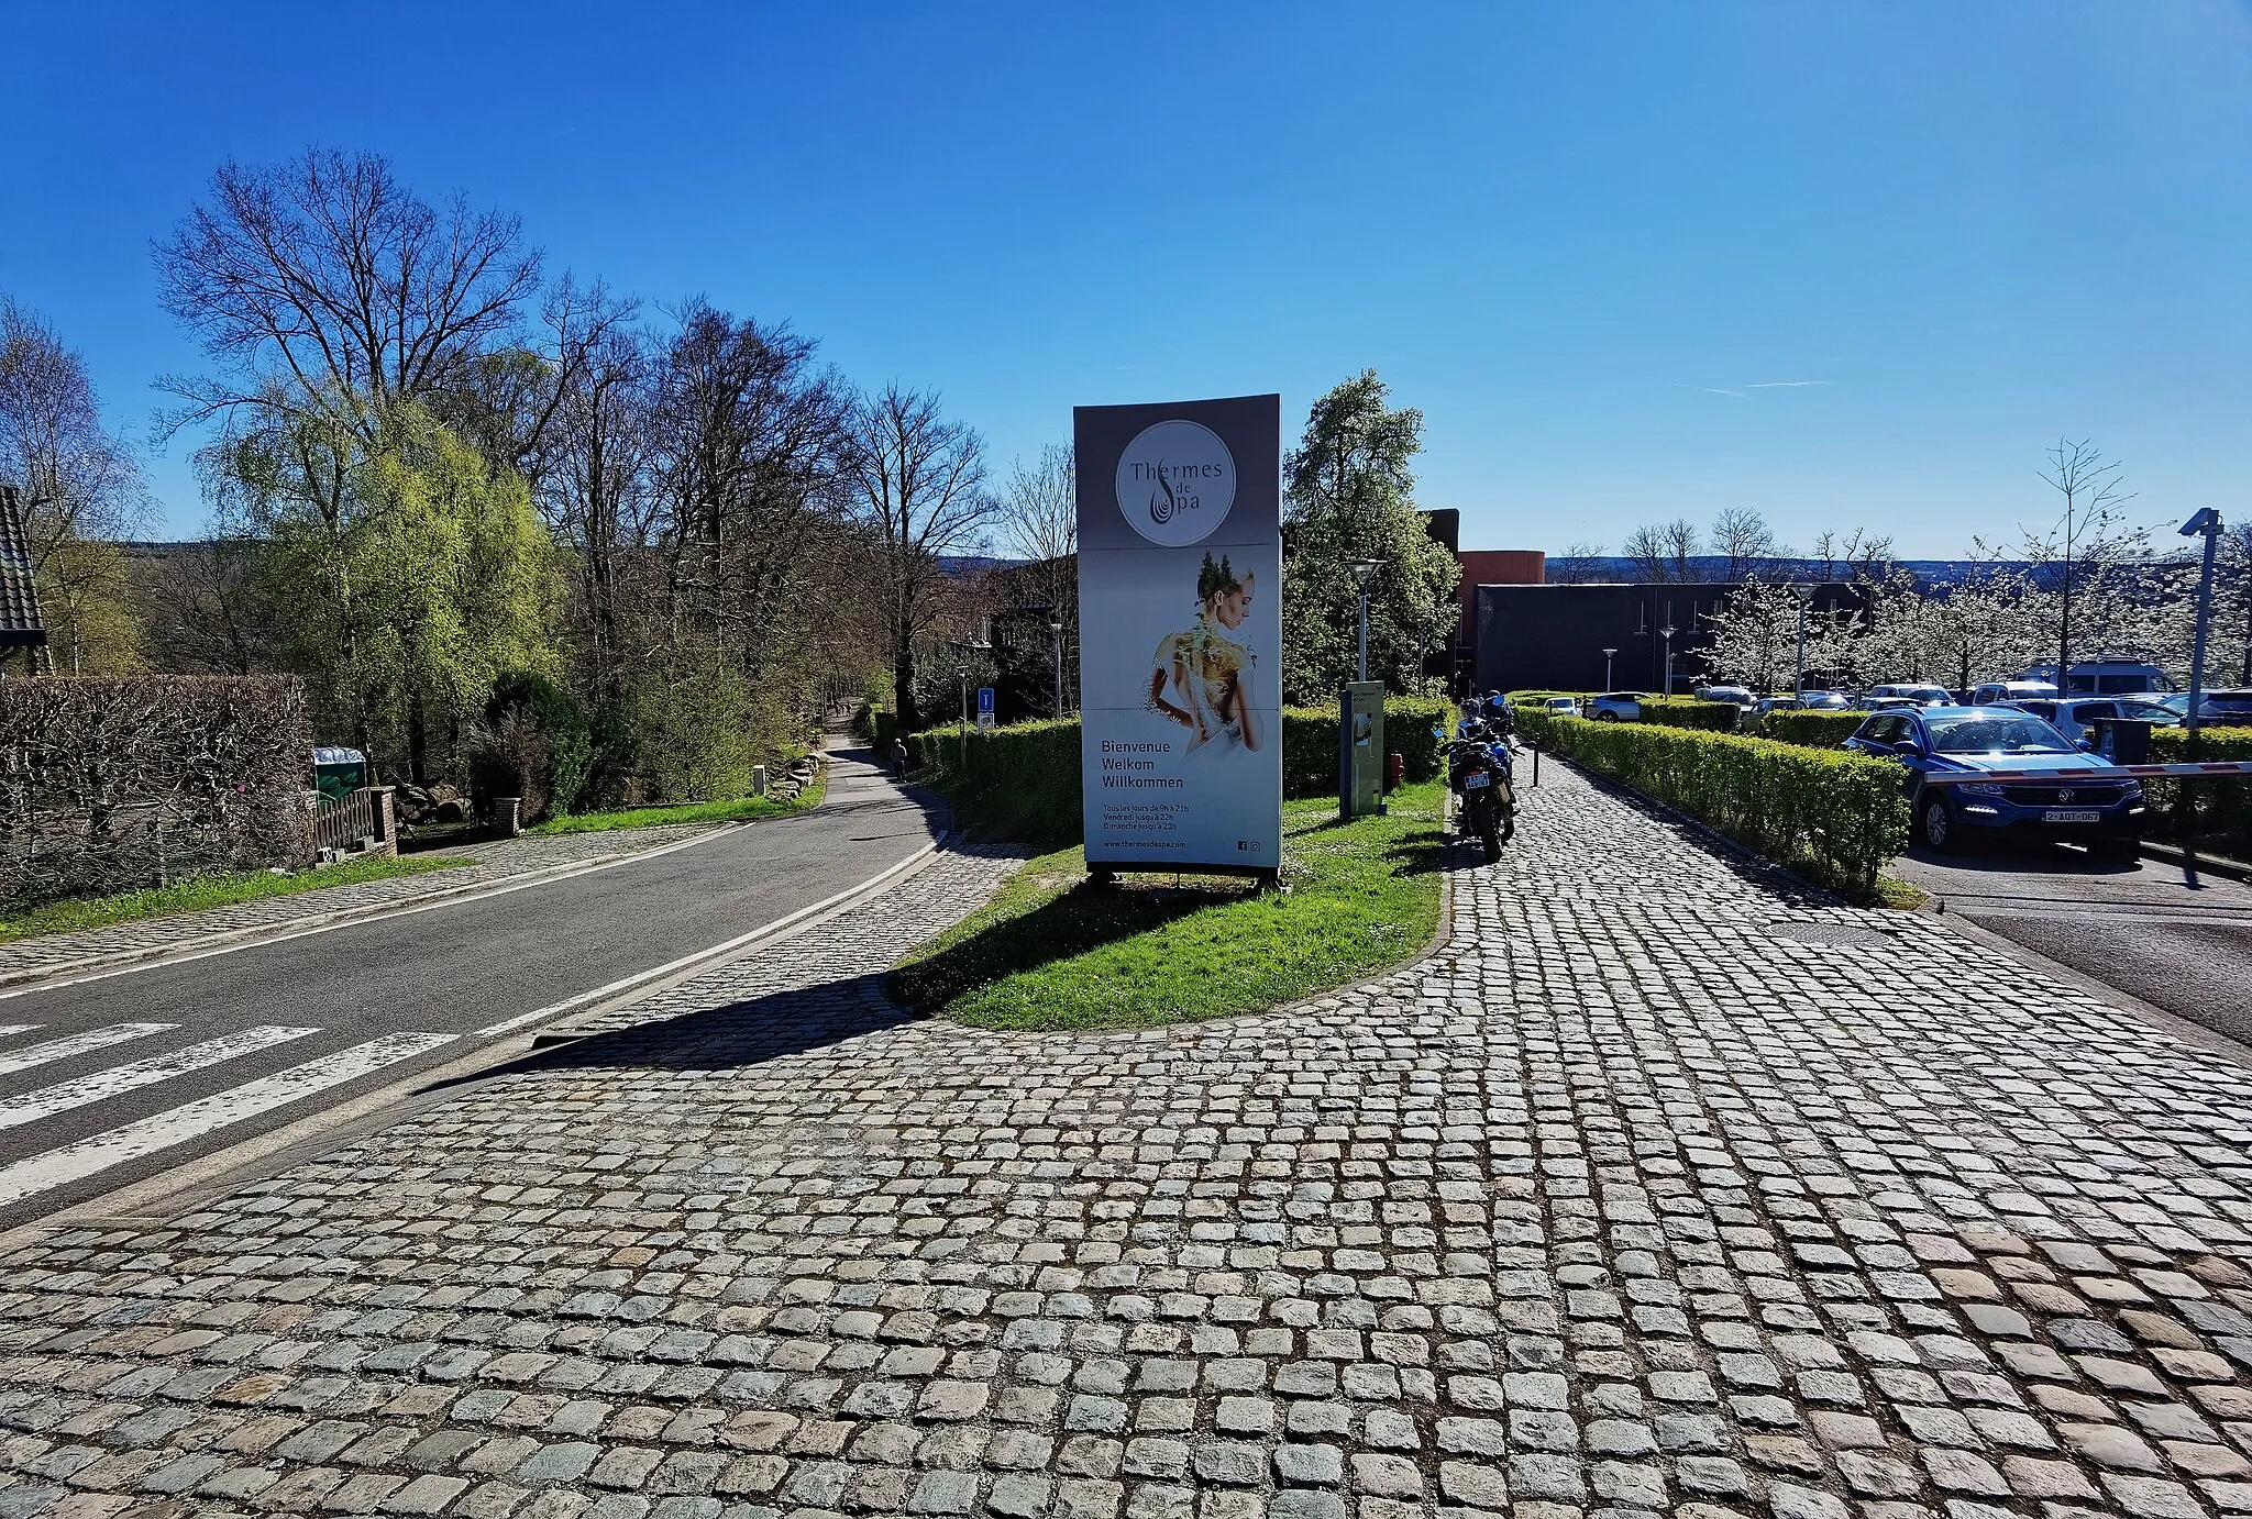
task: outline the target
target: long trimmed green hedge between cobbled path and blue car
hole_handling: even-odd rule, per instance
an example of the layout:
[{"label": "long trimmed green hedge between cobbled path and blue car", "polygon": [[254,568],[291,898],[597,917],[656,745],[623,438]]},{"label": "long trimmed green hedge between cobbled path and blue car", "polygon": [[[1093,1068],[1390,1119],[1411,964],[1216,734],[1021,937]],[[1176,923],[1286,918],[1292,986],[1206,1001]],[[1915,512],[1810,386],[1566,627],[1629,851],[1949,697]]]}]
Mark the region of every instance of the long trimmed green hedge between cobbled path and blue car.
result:
[{"label": "long trimmed green hedge between cobbled path and blue car", "polygon": [[1543,729],[1543,747],[1862,900],[1907,844],[1896,761],[1637,722],[1545,718]]}]

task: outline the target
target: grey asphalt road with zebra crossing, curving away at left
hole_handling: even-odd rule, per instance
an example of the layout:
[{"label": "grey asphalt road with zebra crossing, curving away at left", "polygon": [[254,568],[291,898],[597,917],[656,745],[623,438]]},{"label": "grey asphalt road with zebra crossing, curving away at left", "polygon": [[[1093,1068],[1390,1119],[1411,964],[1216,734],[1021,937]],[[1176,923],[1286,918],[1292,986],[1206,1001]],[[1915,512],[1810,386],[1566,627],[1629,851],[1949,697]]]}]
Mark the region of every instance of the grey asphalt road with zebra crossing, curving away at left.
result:
[{"label": "grey asphalt road with zebra crossing, curving away at left", "polygon": [[941,819],[858,754],[820,808],[504,896],[0,992],[0,1229],[457,1060],[858,887]]}]

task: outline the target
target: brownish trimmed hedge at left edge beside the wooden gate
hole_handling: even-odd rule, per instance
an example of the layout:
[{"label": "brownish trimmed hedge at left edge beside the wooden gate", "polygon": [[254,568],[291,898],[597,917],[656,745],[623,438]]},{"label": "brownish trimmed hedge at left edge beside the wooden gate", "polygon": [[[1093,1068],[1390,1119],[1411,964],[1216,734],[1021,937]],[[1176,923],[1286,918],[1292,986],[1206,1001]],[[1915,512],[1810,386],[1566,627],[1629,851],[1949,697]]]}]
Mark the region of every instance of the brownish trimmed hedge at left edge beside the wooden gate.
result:
[{"label": "brownish trimmed hedge at left edge beside the wooden gate", "polygon": [[293,675],[0,680],[0,900],[306,864]]}]

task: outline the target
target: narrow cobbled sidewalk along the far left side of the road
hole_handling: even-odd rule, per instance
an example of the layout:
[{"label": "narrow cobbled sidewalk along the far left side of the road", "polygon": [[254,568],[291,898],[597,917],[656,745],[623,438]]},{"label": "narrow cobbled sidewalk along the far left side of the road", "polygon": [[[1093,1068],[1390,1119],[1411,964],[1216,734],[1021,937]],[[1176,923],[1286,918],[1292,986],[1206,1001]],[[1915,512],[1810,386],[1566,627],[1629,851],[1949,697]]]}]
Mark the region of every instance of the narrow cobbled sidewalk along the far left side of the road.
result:
[{"label": "narrow cobbled sidewalk along the far left side of the road", "polygon": [[203,911],[173,914],[171,918],[137,918],[133,923],[113,923],[110,927],[18,938],[16,943],[0,945],[0,979],[23,972],[61,970],[106,954],[191,950],[198,941],[216,934],[286,929],[300,918],[322,918],[336,911],[396,907],[423,896],[498,882],[509,875],[552,871],[563,864],[595,862],[610,855],[637,855],[664,844],[678,844],[698,833],[712,833],[712,826],[678,824],[662,828],[617,828],[613,833],[527,833],[516,839],[462,844],[457,851],[448,848],[444,853],[466,855],[475,864],[453,871],[394,875],[354,887],[322,887],[320,891],[302,891],[297,896],[270,896],[257,902],[207,907]]}]

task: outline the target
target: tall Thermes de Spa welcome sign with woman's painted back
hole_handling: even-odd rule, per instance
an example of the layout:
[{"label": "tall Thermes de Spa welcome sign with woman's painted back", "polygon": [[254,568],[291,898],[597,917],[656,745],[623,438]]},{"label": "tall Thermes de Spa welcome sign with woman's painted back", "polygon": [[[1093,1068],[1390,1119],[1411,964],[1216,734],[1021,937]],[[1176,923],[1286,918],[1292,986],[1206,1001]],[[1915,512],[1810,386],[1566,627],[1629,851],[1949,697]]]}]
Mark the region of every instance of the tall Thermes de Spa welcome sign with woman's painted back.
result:
[{"label": "tall Thermes de Spa welcome sign with woman's painted back", "polygon": [[1281,396],[1072,412],[1088,864],[1281,862]]}]

